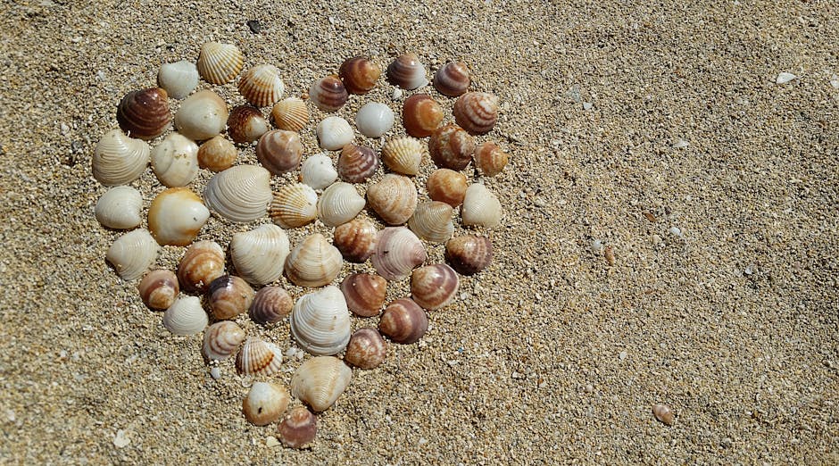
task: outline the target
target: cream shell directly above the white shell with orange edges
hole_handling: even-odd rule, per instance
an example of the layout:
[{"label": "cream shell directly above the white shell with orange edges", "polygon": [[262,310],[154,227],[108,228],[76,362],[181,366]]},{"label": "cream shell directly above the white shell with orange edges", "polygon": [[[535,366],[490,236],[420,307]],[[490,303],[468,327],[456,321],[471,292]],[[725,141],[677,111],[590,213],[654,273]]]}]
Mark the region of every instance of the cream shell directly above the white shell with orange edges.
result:
[{"label": "cream shell directly above the white shell with orange edges", "polygon": [[170,133],[152,149],[152,170],[166,187],[187,186],[198,174],[198,145]]}]

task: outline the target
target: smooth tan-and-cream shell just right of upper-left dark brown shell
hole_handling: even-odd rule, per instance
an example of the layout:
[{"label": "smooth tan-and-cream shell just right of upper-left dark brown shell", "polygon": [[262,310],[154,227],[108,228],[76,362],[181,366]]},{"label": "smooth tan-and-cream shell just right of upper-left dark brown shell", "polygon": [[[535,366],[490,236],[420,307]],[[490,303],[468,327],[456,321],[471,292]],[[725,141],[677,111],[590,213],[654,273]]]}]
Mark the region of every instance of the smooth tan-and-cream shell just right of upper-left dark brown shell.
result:
[{"label": "smooth tan-and-cream shell just right of upper-left dark brown shell", "polygon": [[200,90],[180,103],[175,128],[194,141],[219,136],[228,122],[228,104],[212,90]]}]

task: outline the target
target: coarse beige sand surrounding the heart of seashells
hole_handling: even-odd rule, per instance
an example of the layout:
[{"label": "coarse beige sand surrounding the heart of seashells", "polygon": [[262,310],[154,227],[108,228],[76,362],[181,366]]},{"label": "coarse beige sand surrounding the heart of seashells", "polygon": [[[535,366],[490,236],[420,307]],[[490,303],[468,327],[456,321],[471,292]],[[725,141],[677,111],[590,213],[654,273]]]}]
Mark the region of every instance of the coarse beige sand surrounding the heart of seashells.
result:
[{"label": "coarse beige sand surrounding the heart of seashells", "polygon": [[[3,3],[0,462],[839,462],[830,2],[434,4]],[[354,54],[385,65],[414,51],[429,78],[467,62],[473,88],[502,102],[480,137],[511,154],[485,180],[506,212],[488,232],[493,265],[462,279],[419,344],[355,370],[303,452],[268,446],[275,428],[245,421],[232,362],[213,380],[201,336],[170,335],[104,262],[119,232],[93,215],[106,188],[91,155],[120,97],[207,40],[276,64],[290,95]],[[800,79],[776,84],[781,71]],[[233,84],[214,88],[242,103]],[[422,90],[451,119],[453,99]],[[391,92],[382,81],[339,114],[398,110]],[[146,205],[161,190],[151,170],[133,186]],[[200,238],[226,247],[252,226],[212,218]],[[329,233],[289,234],[310,231]],[[291,345],[285,326],[241,322]]]}]

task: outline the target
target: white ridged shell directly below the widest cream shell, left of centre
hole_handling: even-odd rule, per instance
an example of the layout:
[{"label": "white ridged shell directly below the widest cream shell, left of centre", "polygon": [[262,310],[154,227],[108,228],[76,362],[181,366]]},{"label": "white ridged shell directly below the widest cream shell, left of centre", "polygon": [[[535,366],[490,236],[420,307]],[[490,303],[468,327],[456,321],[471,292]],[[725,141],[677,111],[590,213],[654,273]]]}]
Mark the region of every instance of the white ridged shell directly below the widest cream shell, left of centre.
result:
[{"label": "white ridged shell directly below the widest cream shell, left of centre", "polygon": [[277,225],[261,225],[233,235],[230,258],[239,275],[254,285],[265,285],[283,275],[289,253],[286,231]]}]

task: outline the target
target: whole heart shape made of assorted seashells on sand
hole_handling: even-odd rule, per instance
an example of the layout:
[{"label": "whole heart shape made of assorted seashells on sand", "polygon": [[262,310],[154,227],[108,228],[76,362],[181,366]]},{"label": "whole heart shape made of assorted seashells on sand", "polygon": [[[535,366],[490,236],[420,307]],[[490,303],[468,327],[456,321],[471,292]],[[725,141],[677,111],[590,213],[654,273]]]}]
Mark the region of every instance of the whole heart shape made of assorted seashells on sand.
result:
[{"label": "whole heart shape made of assorted seashells on sand", "polygon": [[[299,132],[309,124],[310,105],[321,112],[339,111],[348,99],[361,98],[351,96],[376,87],[379,65],[362,56],[350,58],[337,75],[313,82],[303,98],[283,99],[286,89],[277,67],[258,64],[241,72],[244,64],[237,46],[207,43],[195,64],[164,64],[159,87],[134,90],[122,98],[117,108],[120,129],[105,133],[93,154],[93,176],[112,187],[96,204],[96,219],[108,229],[130,230],[113,242],[107,261],[122,279],[140,279],[143,303],[164,311],[162,323],[171,333],[204,332],[202,353],[213,378],[220,377],[219,363],[234,354],[237,373],[245,378],[277,373],[284,356],[303,359],[295,347],[283,351],[273,342],[248,337],[235,320],[246,314],[269,328],[288,322],[296,345],[312,357],[295,370],[290,394],[277,379],[249,382],[243,412],[254,425],[265,426],[280,420],[292,396],[299,399],[304,405],[287,412],[277,435],[284,445],[303,447],[316,435],[314,413],[336,402],[353,368],[378,367],[386,359],[387,341],[419,341],[428,329],[427,312],[453,301],[458,273],[478,273],[492,261],[490,239],[476,234],[453,237],[453,221],[460,207],[464,226],[486,230],[500,222],[498,198],[484,184],[469,183],[462,171],[472,162],[479,176],[495,176],[503,171],[508,154],[493,142],[476,142],[476,136],[491,131],[498,119],[497,98],[469,92],[468,68],[449,62],[436,71],[433,86],[440,96],[457,97],[456,124],[442,124],[443,107],[432,96],[414,94],[403,102],[406,136],[390,138],[377,151],[354,144],[350,123],[328,116],[316,129],[325,152],[301,162]],[[195,91],[199,78],[224,85],[240,73],[238,91],[249,104],[228,112],[228,104],[213,90]],[[397,57],[387,66],[386,79],[394,86],[394,101],[403,89],[428,85],[416,54]],[[183,99],[174,116],[170,98]],[[276,129],[262,113],[266,107],[271,107]],[[355,129],[369,139],[391,132],[394,122],[391,107],[378,102],[361,105],[355,115]],[[176,130],[167,134],[172,123]],[[225,129],[227,137],[222,135]],[[146,142],[164,134],[154,147]],[[426,137],[428,143],[422,140]],[[237,145],[248,150],[253,143],[260,164],[236,164]],[[336,163],[331,151],[339,151]],[[429,199],[420,201],[411,177],[428,158],[437,169],[428,177]],[[139,229],[144,199],[128,185],[149,162],[166,188],[151,201],[148,229]],[[381,163],[388,172],[373,182]],[[188,186],[202,169],[214,174],[199,196]],[[272,191],[272,177],[296,171],[300,182]],[[360,187],[366,187],[366,199]],[[366,207],[369,215],[359,216]],[[229,254],[237,275],[226,272],[221,245],[195,241],[211,212],[234,223],[270,218],[271,223],[233,235]],[[312,233],[291,247],[286,229],[315,221],[332,229],[332,242]],[[423,266],[426,245],[440,244],[445,245],[448,264]],[[164,245],[187,246],[177,270],[150,270]],[[368,261],[376,273],[351,273],[339,287],[331,285],[345,270],[345,262]],[[288,287],[278,286],[283,275]],[[386,304],[388,283],[409,277],[411,295]],[[301,292],[295,301],[293,286],[318,289]],[[200,295],[206,296],[208,309]],[[364,327],[351,335],[353,315],[379,316],[378,328]]]}]

